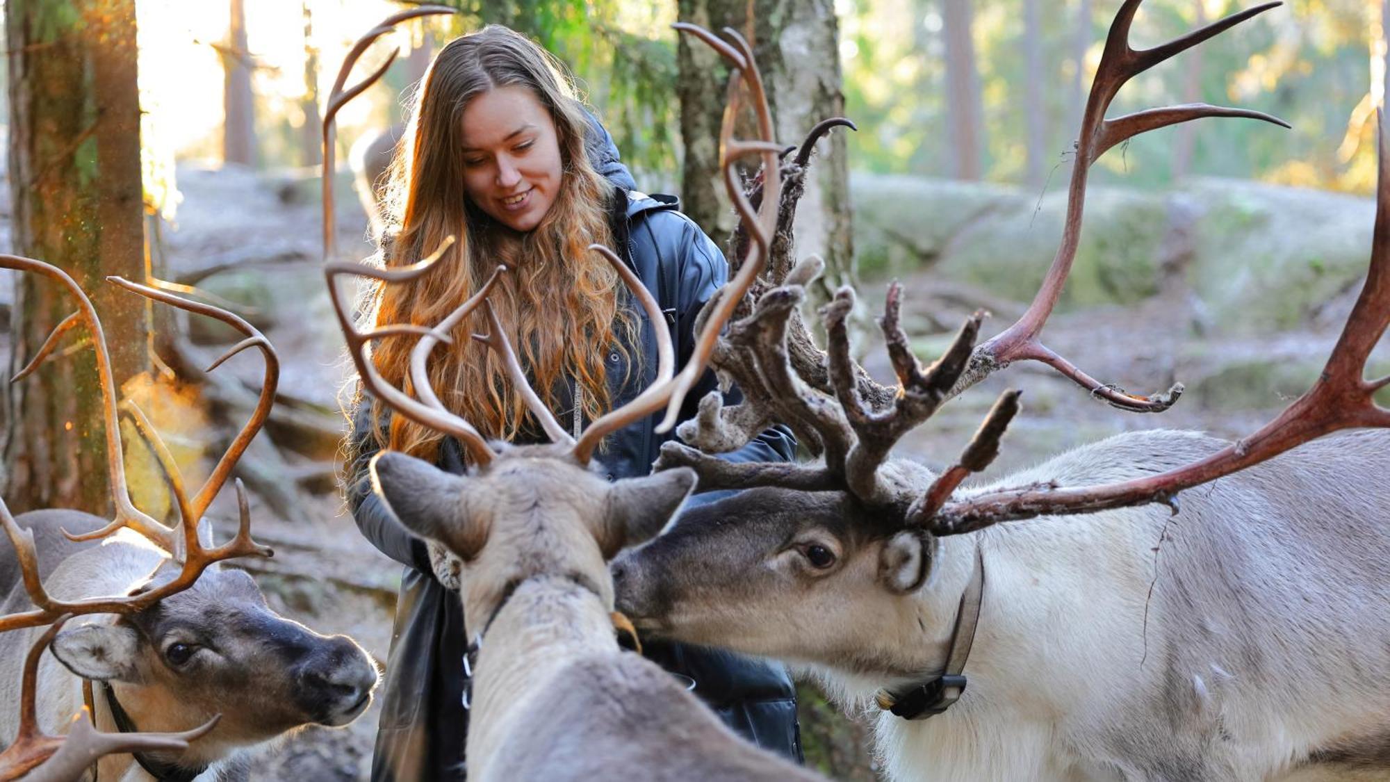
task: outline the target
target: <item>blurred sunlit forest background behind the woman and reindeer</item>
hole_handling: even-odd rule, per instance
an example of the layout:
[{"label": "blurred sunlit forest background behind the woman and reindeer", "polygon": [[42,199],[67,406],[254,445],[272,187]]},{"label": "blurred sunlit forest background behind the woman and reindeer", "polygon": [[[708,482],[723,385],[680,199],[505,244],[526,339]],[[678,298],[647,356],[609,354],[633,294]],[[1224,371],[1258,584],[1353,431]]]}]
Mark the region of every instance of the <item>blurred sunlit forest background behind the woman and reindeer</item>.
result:
[{"label": "blurred sunlit forest background behind the woman and reindeer", "polygon": [[[986,326],[992,334],[1031,298],[1061,234],[1072,143],[1119,0],[441,4],[460,14],[404,24],[368,50],[359,77],[392,47],[403,56],[382,83],[339,114],[339,170],[332,177],[345,255],[373,250],[370,212],[354,195],[354,178],[359,189],[370,178],[371,142],[385,138],[389,145],[441,42],[486,22],[531,35],[567,63],[639,188],[681,195],[687,212],[723,244],[731,218],[713,186],[712,160],[726,71],[680,43],[670,24],[730,24],[748,33],[760,61],[766,57],[780,141],[799,142],[828,115],[858,124],[858,132],[835,131],[820,145],[798,246],[801,255],[826,255],[827,285],[856,282],[866,313],[887,278],[902,278],[905,321],[926,359],[974,308],[994,313]],[[122,14],[133,19],[122,29],[138,40],[131,100],[139,104],[140,170],[132,167],[122,181],[142,193],[135,200],[145,209],[131,217],[136,249],[126,260],[135,271],[126,274],[150,271],[236,306],[281,351],[279,404],[239,466],[254,494],[257,537],[277,557],[246,566],[288,615],[322,632],[348,632],[381,661],[399,569],[361,541],[341,513],[335,487],[339,390],[350,378],[318,273],[320,113],[353,40],[409,6],[10,0],[10,90],[0,111],[32,117],[39,106],[26,89],[43,85],[26,82],[36,72],[31,65],[15,70],[19,51],[42,49],[44,36],[85,35],[96,24],[93,7],[110,11],[101,24],[120,22]],[[1241,7],[1232,0],[1148,0],[1133,40],[1152,46]],[[1293,129],[1202,120],[1147,134],[1097,163],[1081,252],[1044,340],[1136,392],[1182,380],[1188,394],[1162,416],[1134,416],[1088,401],[1040,367],[1001,373],[990,384],[1023,385],[1027,394],[995,472],[1123,429],[1179,426],[1238,437],[1316,377],[1369,256],[1375,118],[1387,89],[1386,7],[1382,0],[1293,0],[1120,92],[1112,115],[1207,102],[1266,111]],[[21,17],[22,29],[13,24]],[[90,81],[90,72],[72,78]],[[65,257],[75,250],[44,245],[49,239],[33,223],[39,200],[58,203],[56,191],[46,189],[56,171],[76,171],[61,185],[70,189],[106,181],[104,157],[101,177],[83,167],[85,156],[99,156],[100,141],[79,125],[67,141],[47,139],[43,147],[39,138],[39,146],[24,146],[35,135],[33,128],[11,128],[0,237],[7,249],[65,269],[92,264],[83,280],[96,289],[100,276],[115,273],[115,260],[104,249],[85,260]],[[64,213],[54,220],[78,218]],[[114,223],[103,225],[114,230]],[[33,294],[22,285],[8,291],[11,280],[0,285],[0,305],[10,309],[0,320],[8,323],[0,349],[19,366],[54,320],[35,317],[32,305],[22,305]],[[100,298],[97,306],[104,306]],[[132,345],[153,334],[149,352],[122,370],[122,391],[142,399],[196,476],[200,463],[204,472],[208,466],[207,452],[245,419],[260,365],[238,358],[202,373],[197,367],[221,352],[228,334],[196,320],[142,317],[135,328],[143,331],[115,331]],[[887,374],[876,345],[863,340],[859,349],[870,370]],[[1387,369],[1382,351],[1372,372]],[[28,383],[56,392],[64,388],[57,377],[40,373]],[[61,491],[40,491],[31,486],[35,476],[13,468],[25,438],[68,442],[75,436],[25,434],[25,427],[53,424],[25,416],[18,394],[11,388],[0,422],[4,497],[17,512],[60,505]],[[954,402],[930,431],[902,444],[902,455],[933,466],[949,459],[992,398],[979,391]],[[100,461],[100,436],[86,442]],[[76,440],[71,447],[83,448]],[[142,458],[139,449],[131,458]],[[74,494],[68,506],[106,512],[99,480],[75,483],[95,494]],[[143,488],[135,483],[146,493],[138,498],[142,508],[164,502],[167,509],[158,479]],[[231,508],[224,515],[234,516]],[[863,724],[841,718],[810,690],[805,694],[810,761],[837,778],[873,778]],[[267,751],[253,778],[366,778],[374,729],[375,711],[348,731],[306,731]]]}]

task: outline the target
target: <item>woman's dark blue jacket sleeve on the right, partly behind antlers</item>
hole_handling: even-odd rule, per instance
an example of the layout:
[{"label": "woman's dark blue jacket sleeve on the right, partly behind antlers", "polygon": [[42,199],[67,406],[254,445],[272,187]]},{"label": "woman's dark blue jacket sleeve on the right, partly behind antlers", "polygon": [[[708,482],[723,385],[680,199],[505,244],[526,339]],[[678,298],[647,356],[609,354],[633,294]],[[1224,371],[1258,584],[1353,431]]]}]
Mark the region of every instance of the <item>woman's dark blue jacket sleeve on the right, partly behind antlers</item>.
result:
[{"label": "woman's dark blue jacket sleeve on the right, partly behind antlers", "polygon": [[[701,308],[728,282],[728,262],[719,246],[699,230],[695,223],[684,214],[669,212],[682,223],[681,248],[681,284],[677,312],[677,366],[682,366],[695,352],[695,317]],[[699,401],[719,387],[719,380],[713,370],[706,370],[699,383],[687,394],[681,404],[680,420],[695,417]],[[724,392],[726,405],[742,402],[744,394],[737,385]],[[719,458],[728,462],[790,462],[796,455],[796,438],[791,429],[784,424],[774,424],[762,434],[752,438],[742,448]]]}]

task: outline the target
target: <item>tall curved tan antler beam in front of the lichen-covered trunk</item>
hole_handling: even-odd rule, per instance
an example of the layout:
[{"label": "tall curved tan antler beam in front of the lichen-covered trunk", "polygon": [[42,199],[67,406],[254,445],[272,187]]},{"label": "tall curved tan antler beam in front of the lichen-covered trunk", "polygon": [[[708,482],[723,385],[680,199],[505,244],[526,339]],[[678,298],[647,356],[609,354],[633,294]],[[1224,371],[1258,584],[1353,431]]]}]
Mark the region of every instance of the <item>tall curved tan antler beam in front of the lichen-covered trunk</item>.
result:
[{"label": "tall curved tan antler beam in front of the lichen-covered trunk", "polygon": [[[716,342],[719,341],[719,331],[728,323],[728,319],[734,314],[734,309],[738,306],[744,294],[748,292],[753,281],[762,274],[763,267],[767,264],[769,250],[771,248],[773,232],[777,228],[777,210],[781,203],[781,178],[777,175],[770,175],[764,178],[763,188],[763,202],[759,209],[748,200],[744,195],[742,186],[738,184],[738,175],[734,170],[734,164],[738,159],[748,154],[762,154],[763,170],[776,173],[777,171],[777,156],[781,152],[781,146],[773,142],[773,120],[771,110],[767,107],[767,95],[763,89],[762,74],[758,71],[758,63],[753,60],[753,50],[746,40],[737,31],[724,28],[724,35],[733,40],[733,47],[716,45],[717,39],[713,38],[708,31],[696,28],[695,25],[677,24],[676,29],[681,32],[688,32],[695,35],[705,43],[710,45],[717,50],[735,71],[735,77],[730,79],[728,85],[728,103],[724,107],[724,122],[720,129],[720,167],[724,175],[724,189],[728,192],[730,200],[734,203],[734,209],[738,210],[739,220],[742,220],[748,227],[753,238],[753,245],[749,248],[748,256],[742,260],[738,267],[738,273],[734,278],[720,291],[717,301],[712,302],[713,310],[705,321],[705,327],[699,334],[695,344],[695,352],[691,355],[689,362],[681,369],[680,374],[671,381],[673,388],[670,394],[670,404],[666,410],[666,419],[656,427],[656,431],[664,433],[670,431],[676,426],[676,417],[680,415],[681,404],[685,401],[685,394],[699,381],[701,376],[705,374],[705,367],[709,365],[709,359],[714,352]],[[741,104],[741,92],[738,89],[739,82],[748,85],[749,97],[753,104],[753,111],[758,115],[758,131],[760,135],[759,141],[738,141],[734,138],[734,121],[738,117],[738,110]]]}]

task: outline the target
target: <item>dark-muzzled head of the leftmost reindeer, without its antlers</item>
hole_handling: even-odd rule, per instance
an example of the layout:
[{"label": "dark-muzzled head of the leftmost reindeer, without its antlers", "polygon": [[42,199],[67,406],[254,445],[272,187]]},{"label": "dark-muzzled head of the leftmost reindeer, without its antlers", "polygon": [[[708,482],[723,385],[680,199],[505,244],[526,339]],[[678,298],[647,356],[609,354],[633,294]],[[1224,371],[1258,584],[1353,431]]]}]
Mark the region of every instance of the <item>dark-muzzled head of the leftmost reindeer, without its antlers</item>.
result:
[{"label": "dark-muzzled head of the leftmost reindeer, without its antlers", "polygon": [[281,616],[246,572],[215,565],[143,611],[68,622],[51,650],[78,676],[110,685],[142,731],[182,731],[221,714],[181,757],[185,765],[302,725],[346,725],[377,685],[374,662],[352,639]]}]

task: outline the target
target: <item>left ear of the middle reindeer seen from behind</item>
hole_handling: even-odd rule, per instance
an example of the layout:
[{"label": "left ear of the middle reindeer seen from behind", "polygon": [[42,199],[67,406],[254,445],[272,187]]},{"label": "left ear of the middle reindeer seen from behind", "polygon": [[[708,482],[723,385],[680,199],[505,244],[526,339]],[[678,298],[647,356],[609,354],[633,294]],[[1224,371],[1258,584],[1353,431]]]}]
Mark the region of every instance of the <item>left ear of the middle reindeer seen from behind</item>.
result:
[{"label": "left ear of the middle reindeer seen from behind", "polygon": [[403,527],[438,540],[464,559],[482,548],[486,532],[468,513],[468,479],[398,454],[382,451],[371,459],[371,488]]}]

